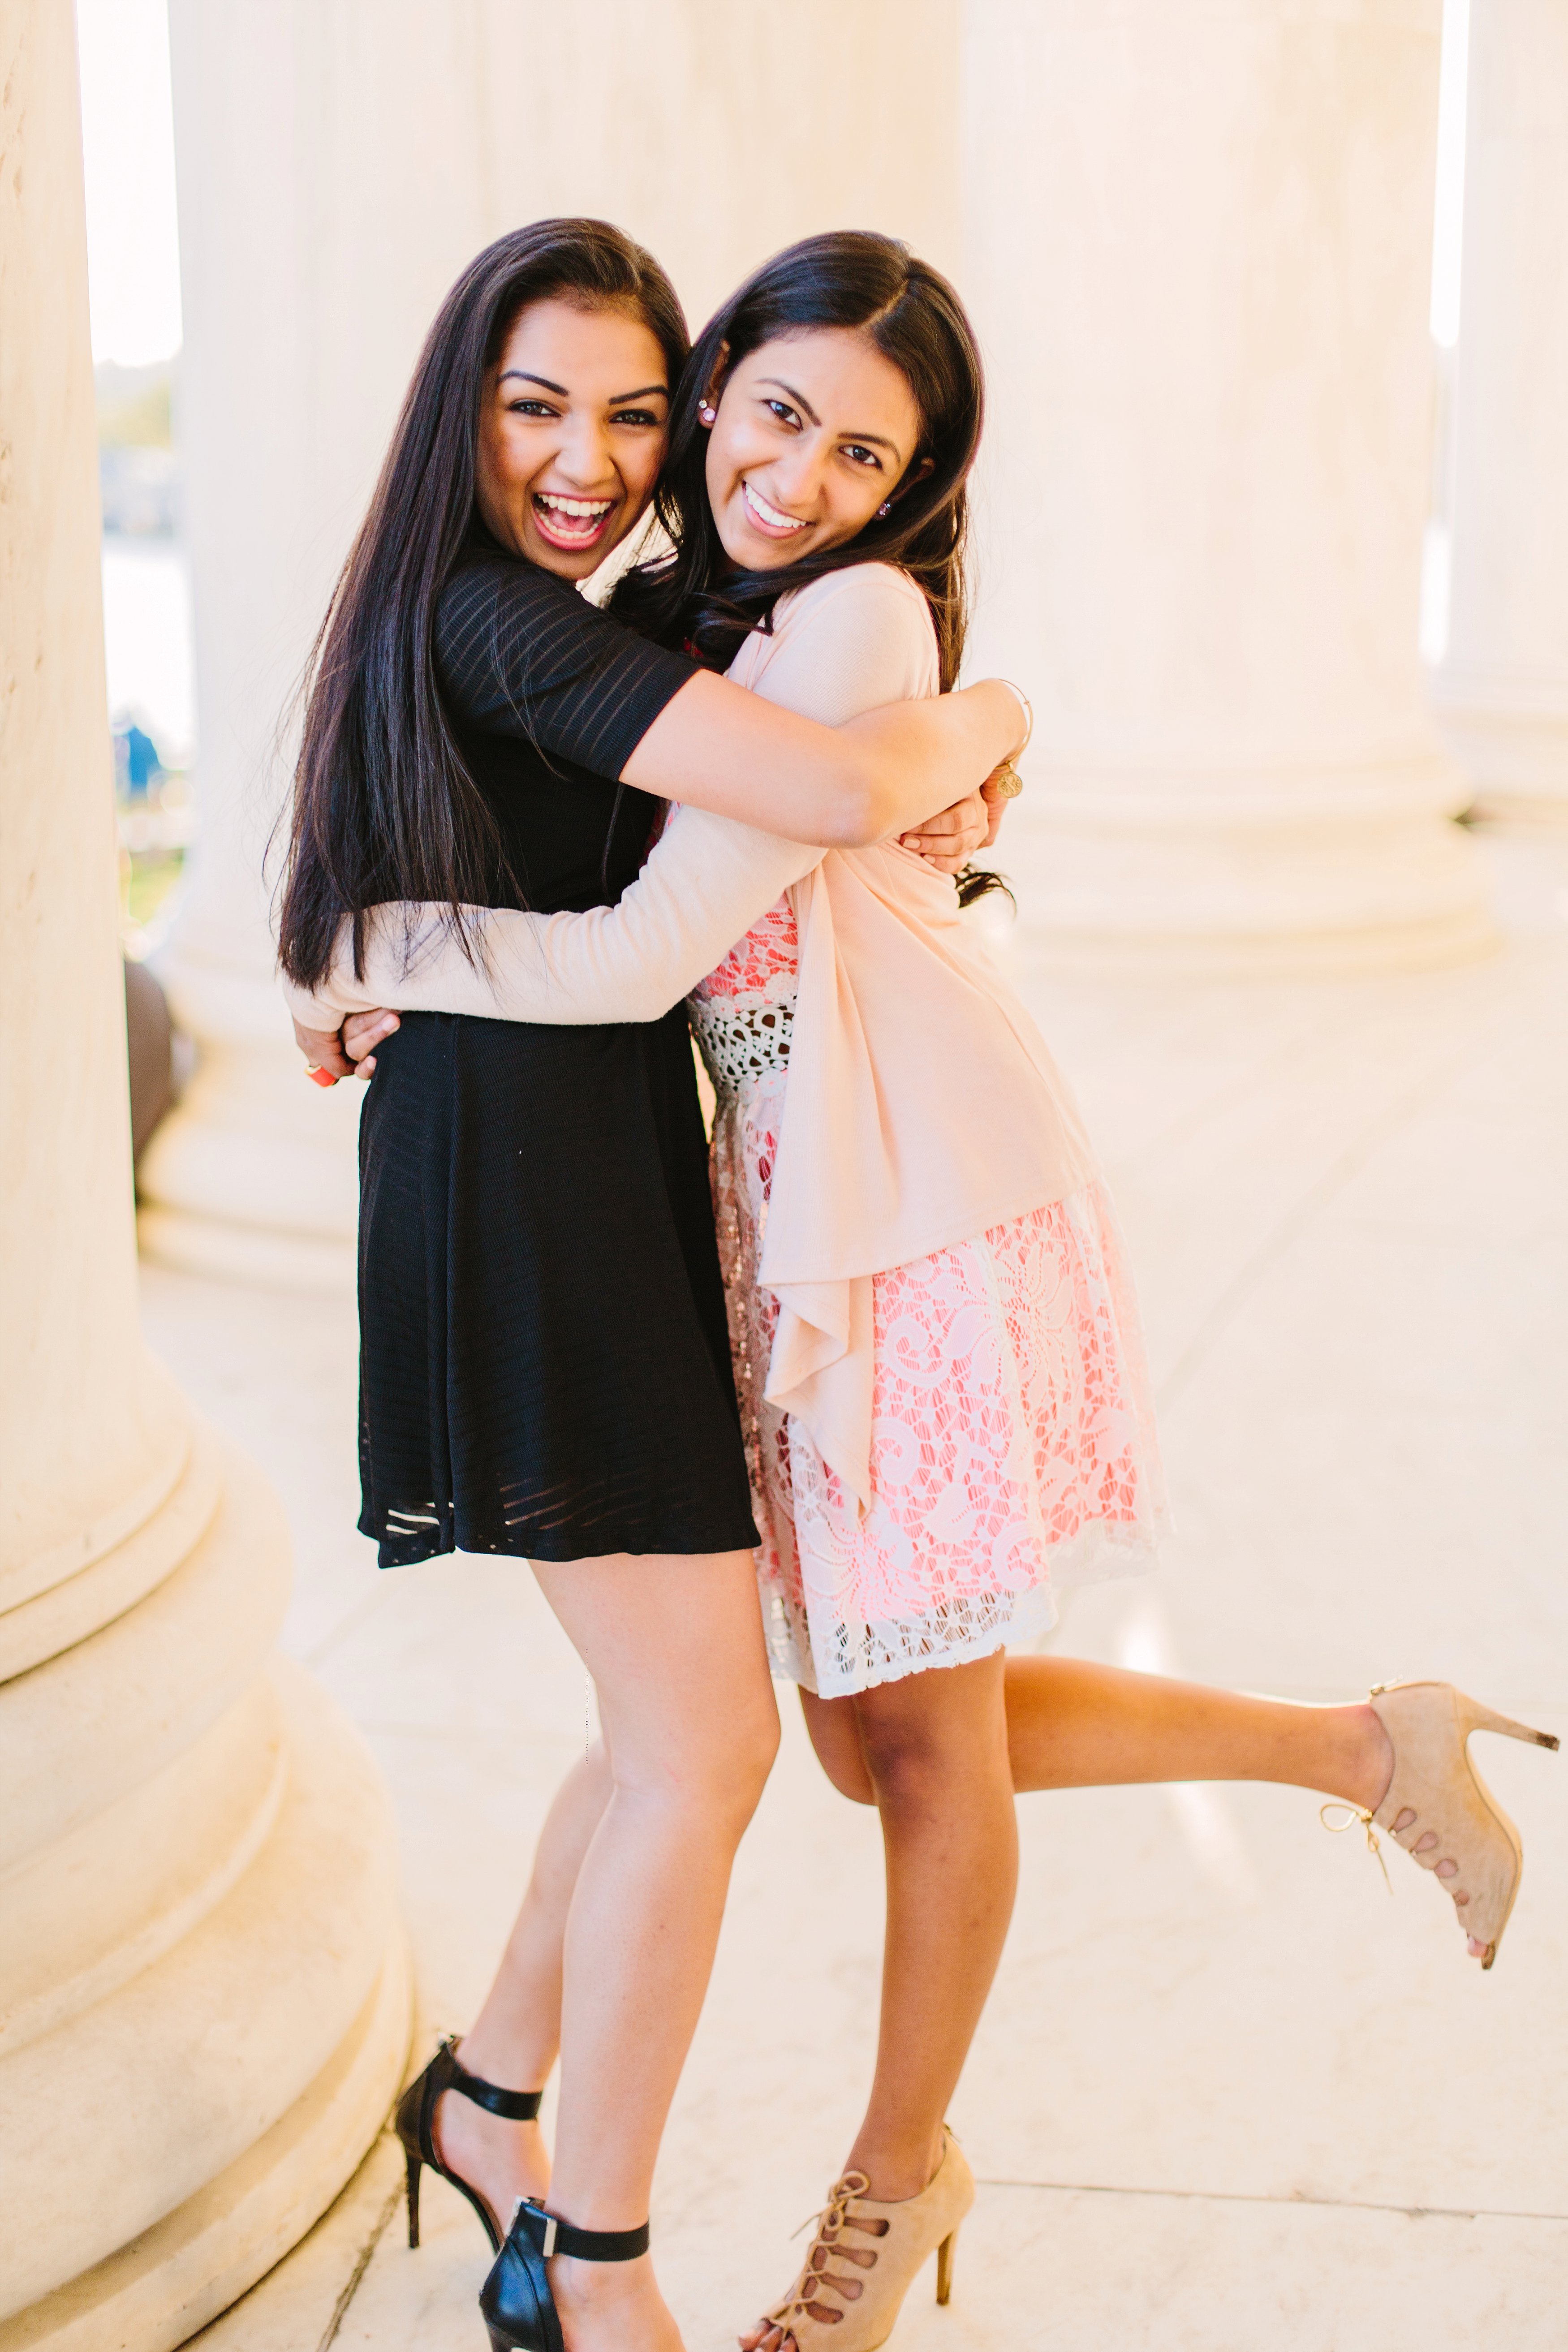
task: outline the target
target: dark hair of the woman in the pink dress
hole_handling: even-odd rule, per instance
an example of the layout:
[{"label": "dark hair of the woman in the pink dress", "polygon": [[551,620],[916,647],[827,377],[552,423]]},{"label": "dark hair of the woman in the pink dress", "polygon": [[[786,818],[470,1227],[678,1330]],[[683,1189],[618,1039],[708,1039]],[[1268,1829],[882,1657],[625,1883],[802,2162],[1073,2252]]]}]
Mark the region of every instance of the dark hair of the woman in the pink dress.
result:
[{"label": "dark hair of the woman in the pink dress", "polygon": [[[865,334],[905,376],[919,412],[919,447],[886,517],[875,517],[842,548],[806,555],[780,572],[729,572],[708,503],[708,435],[696,405],[724,365],[733,367],[778,336],[813,327]],[[663,562],[630,572],[611,612],[668,644],[691,642],[724,668],[741,640],[766,626],[790,588],[846,564],[898,564],[924,590],[936,623],[943,687],[964,654],[969,590],[966,477],[980,442],[985,379],[973,327],[947,280],[898,238],[837,230],[802,238],[764,261],[703,327],[670,428],[658,487],[658,517],[675,543]],[[924,461],[931,470],[919,477]]]}]

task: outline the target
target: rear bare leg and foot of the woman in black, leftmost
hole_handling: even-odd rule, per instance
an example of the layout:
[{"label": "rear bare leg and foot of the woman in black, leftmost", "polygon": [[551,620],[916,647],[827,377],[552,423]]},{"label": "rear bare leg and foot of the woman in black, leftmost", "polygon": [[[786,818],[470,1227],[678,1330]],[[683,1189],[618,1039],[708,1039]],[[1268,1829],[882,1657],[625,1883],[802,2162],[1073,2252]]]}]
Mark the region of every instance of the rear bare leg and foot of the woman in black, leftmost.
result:
[{"label": "rear bare leg and foot of the woman in black, leftmost", "polygon": [[[463,2034],[463,2065],[505,2091],[543,2089],[559,2053],[567,1915],[609,1795],[609,1757],[604,1740],[595,1740],[555,1792],[496,1983]],[[550,2154],[538,2124],[508,2124],[456,2091],[437,2100],[435,2145],[503,2225],[520,2197],[545,2197],[550,2190]]]}]

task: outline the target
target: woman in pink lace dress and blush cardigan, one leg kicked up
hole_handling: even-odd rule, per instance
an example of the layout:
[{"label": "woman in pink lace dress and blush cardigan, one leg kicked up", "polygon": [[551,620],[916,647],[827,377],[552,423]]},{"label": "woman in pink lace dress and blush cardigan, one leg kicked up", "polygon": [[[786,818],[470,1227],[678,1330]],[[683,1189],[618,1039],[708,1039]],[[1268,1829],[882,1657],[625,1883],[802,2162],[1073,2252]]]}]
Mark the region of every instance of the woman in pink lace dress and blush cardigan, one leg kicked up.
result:
[{"label": "woman in pink lace dress and blush cardigan, one leg kicked up", "polygon": [[[616,609],[820,722],[936,694],[964,642],[980,405],[933,270],[886,238],[792,247],[696,346],[663,487],[677,553]],[[1556,1745],[1446,1684],[1302,1708],[1009,1656],[1048,1630],[1056,1588],[1145,1566],[1164,1503],[1110,1200],[964,922],[971,891],[896,842],[820,856],[682,807],[618,906],[484,915],[480,967],[444,910],[393,908],[360,976],[341,955],[296,1004],[346,1018],[374,1068],[393,1007],[599,1023],[689,995],[773,1668],[886,1842],[870,2105],[795,2286],[743,2338],[757,2352],[870,2352],[933,2249],[945,2300],[973,2180],[943,2117],[1013,1905],[1018,1790],[1326,1792],[1439,1872],[1490,1966],[1519,1839],[1465,1740],[1486,1724]],[[597,1771],[545,1830],[520,1926],[541,2074]]]}]

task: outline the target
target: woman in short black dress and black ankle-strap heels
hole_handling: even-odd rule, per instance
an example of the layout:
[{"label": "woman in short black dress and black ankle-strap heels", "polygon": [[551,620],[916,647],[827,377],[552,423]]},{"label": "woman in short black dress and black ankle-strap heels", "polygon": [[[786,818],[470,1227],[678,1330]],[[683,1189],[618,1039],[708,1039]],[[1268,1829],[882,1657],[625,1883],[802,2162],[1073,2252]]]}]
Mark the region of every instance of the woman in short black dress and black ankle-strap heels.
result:
[{"label": "woman in short black dress and black ankle-strap heels", "polygon": [[[574,593],[654,499],[684,358],[668,280],[604,223],[517,230],[449,294],[317,640],[282,896],[301,985],[376,903],[437,898],[454,924],[614,903],[665,797],[860,844],[1018,750],[999,682],[816,727]],[[564,1971],[559,2220],[522,2216],[487,2319],[498,2345],[675,2352],[649,2183],[778,1738],[684,1011],[407,1016],[360,1162],[360,1526],[383,1566],[534,1562],[604,1731],[536,1865],[538,1886],[602,1806],[564,1959],[524,1910],[461,2063],[404,2100],[411,2218],[421,2159],[491,2241],[541,2187],[503,2122],[536,2105],[538,1978]]]}]

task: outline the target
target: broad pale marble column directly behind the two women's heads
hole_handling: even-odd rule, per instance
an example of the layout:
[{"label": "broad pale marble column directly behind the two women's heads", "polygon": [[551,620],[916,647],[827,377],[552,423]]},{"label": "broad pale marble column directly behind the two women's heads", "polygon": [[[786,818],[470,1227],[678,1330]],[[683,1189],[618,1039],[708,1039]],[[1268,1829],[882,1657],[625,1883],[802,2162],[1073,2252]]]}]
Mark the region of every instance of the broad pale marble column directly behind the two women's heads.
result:
[{"label": "broad pale marble column directly behind the two women's heads", "polygon": [[552,212],[632,228],[693,320],[842,221],[954,261],[957,0],[611,14],[607,42],[541,0],[172,0],[202,833],[158,957],[200,1047],[141,1162],[160,1258],[353,1282],[357,1089],[301,1075],[263,851],[289,694],[451,278]]}]

